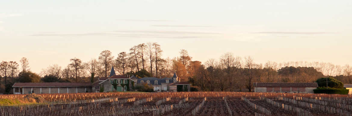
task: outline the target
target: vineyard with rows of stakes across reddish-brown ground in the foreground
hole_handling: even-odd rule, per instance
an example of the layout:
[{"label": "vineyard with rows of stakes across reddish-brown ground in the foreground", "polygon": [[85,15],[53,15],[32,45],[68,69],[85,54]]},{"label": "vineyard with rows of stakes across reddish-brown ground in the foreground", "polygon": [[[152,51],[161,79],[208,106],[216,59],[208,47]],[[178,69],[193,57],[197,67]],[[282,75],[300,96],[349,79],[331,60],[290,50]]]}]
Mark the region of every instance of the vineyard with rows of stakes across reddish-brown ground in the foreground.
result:
[{"label": "vineyard with rows of stakes across reddish-brown ground in the foreground", "polygon": [[[352,116],[352,96],[298,93],[173,92],[38,94],[44,104],[2,105],[1,116]],[[21,99],[26,95],[0,95]]]}]

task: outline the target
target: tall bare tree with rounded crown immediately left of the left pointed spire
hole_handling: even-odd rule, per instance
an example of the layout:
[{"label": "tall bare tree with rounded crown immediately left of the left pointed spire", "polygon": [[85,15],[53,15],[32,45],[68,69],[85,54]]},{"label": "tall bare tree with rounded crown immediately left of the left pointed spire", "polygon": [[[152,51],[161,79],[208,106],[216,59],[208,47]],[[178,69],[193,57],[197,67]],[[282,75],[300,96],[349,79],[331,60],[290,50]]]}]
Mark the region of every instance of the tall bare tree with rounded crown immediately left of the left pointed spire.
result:
[{"label": "tall bare tree with rounded crown immediately left of the left pointed spire", "polygon": [[104,50],[99,56],[100,63],[105,67],[105,77],[108,76],[108,68],[114,59],[114,56],[111,56],[111,54],[112,53],[109,50]]}]

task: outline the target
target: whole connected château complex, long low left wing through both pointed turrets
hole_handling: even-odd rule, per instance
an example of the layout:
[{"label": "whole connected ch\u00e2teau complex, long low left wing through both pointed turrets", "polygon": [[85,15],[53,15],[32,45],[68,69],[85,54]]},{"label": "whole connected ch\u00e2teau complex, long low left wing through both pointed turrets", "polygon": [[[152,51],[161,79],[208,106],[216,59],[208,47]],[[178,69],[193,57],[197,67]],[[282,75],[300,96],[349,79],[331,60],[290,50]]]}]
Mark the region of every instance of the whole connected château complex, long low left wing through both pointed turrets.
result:
[{"label": "whole connected ch\u00e2teau complex, long low left wing through both pointed turrets", "polygon": [[148,84],[154,91],[177,91],[177,86],[182,86],[183,91],[190,90],[188,82],[179,82],[176,73],[170,78],[158,79],[156,77],[144,77],[138,79],[136,76],[126,77],[115,75],[114,67],[108,78],[99,78],[93,83],[70,83],[70,82],[50,82],[50,83],[15,83],[13,93],[17,94],[56,94],[56,93],[86,93],[86,92],[109,92],[109,91],[132,91],[136,84]]}]

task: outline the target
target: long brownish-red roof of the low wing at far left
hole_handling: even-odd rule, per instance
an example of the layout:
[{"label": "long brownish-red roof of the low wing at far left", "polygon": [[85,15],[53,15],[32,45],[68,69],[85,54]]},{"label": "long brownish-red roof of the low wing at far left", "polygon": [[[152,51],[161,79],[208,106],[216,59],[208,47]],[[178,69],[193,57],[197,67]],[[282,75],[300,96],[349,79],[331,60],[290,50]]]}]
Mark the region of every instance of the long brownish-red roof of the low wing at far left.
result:
[{"label": "long brownish-red roof of the low wing at far left", "polygon": [[92,83],[70,83],[70,82],[50,82],[50,83],[15,83],[12,87],[91,87]]}]

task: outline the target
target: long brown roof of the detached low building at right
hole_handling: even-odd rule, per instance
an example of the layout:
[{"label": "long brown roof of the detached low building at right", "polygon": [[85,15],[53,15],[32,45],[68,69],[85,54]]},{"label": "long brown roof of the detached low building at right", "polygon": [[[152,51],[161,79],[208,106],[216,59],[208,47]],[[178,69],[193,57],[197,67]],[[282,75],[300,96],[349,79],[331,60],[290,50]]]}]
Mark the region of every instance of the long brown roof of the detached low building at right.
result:
[{"label": "long brown roof of the detached low building at right", "polygon": [[253,83],[254,87],[318,87],[318,83]]}]

